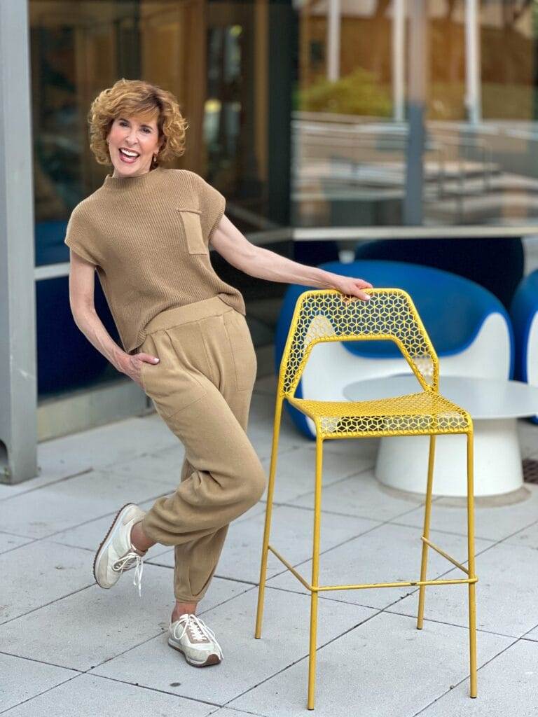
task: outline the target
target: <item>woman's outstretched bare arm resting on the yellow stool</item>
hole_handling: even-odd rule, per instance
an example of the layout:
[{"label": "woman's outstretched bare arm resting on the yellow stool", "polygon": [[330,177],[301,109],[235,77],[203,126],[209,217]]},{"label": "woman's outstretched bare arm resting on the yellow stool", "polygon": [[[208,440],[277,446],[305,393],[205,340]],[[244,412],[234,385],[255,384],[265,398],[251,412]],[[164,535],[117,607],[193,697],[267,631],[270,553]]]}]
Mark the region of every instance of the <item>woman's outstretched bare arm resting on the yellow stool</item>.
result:
[{"label": "woman's outstretched bare arm resting on the yellow stool", "polygon": [[369,282],[299,264],[263,247],[256,247],[225,214],[213,232],[211,244],[227,262],[250,276],[268,281],[338,289],[341,293],[369,300],[369,295],[362,291],[372,288]]}]

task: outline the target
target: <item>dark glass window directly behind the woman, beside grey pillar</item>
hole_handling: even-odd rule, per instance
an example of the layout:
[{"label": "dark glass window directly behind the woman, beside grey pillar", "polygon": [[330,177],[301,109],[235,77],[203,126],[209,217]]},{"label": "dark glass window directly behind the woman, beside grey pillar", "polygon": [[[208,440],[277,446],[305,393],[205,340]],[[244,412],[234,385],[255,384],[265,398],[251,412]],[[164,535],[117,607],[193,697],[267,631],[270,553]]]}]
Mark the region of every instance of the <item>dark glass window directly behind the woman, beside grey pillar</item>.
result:
[{"label": "dark glass window directly behind the woman, beside grey pillar", "polygon": [[[88,111],[121,77],[143,78],[176,95],[189,123],[187,151],[169,166],[196,171],[222,191],[227,216],[242,232],[288,225],[288,212],[279,214],[283,202],[269,201],[274,190],[268,184],[268,34],[278,13],[268,0],[29,1],[37,266],[68,261],[63,240],[70,213],[112,171],[90,151]],[[271,151],[289,168],[289,113],[286,120],[279,133],[285,151],[278,136]],[[278,190],[283,174],[274,174]],[[242,290],[251,315],[257,302],[285,290],[263,286],[217,252],[212,262],[223,280]],[[100,318],[119,343],[97,280],[95,290]],[[118,378],[72,321],[67,267],[37,281],[37,323],[40,394]]]}]

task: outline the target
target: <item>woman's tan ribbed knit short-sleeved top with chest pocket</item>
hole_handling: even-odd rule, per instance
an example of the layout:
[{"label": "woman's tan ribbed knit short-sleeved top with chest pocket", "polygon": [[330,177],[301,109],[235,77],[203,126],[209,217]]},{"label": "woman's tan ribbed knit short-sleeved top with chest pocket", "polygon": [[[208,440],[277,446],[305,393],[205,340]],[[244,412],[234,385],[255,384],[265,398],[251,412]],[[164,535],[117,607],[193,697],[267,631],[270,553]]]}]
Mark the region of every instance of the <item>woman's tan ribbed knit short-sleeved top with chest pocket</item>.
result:
[{"label": "woman's tan ribbed knit short-sleeved top with chest pocket", "polygon": [[218,295],[245,315],[242,294],[209,259],[225,204],[199,174],[157,167],[124,179],[108,174],[73,209],[65,244],[95,265],[128,353],[143,343],[148,322],[175,306]]}]

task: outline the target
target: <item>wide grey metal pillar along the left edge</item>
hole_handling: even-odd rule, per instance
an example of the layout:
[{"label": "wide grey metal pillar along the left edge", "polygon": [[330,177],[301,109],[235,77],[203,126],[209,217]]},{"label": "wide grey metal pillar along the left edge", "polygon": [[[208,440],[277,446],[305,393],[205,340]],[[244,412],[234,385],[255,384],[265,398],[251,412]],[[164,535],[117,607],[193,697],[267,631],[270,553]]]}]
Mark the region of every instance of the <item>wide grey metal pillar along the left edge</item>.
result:
[{"label": "wide grey metal pillar along the left edge", "polygon": [[28,6],[0,1],[0,482],[37,475]]}]

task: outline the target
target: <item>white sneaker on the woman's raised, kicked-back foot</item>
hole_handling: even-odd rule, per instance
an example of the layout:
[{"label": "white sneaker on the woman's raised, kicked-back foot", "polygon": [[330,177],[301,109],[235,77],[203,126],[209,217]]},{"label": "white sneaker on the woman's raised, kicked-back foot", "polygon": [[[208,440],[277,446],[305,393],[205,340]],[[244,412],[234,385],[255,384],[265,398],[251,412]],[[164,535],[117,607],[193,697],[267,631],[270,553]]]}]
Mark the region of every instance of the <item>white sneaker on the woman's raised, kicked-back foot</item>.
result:
[{"label": "white sneaker on the woman's raised, kicked-back foot", "polygon": [[93,561],[93,574],[100,587],[113,587],[123,571],[136,564],[133,585],[137,585],[138,594],[142,594],[143,556],[147,551],[141,553],[133,546],[131,529],[145,515],[134,503],[127,503],[118,511]]}]

